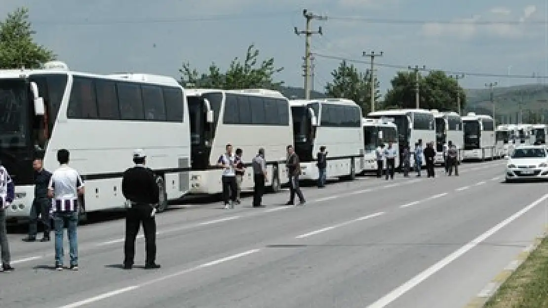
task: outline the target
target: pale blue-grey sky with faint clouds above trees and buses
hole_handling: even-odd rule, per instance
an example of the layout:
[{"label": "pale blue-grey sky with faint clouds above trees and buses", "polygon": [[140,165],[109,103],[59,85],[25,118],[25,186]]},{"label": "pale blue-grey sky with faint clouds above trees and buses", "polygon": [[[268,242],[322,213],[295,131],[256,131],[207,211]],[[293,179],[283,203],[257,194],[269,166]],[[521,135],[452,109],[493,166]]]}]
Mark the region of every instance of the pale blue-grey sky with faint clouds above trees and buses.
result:
[{"label": "pale blue-grey sky with faint clouds above trees and buses", "polygon": [[[226,69],[255,44],[273,57],[276,79],[302,86],[302,10],[313,20],[314,89],[323,90],[340,59],[375,57],[381,93],[408,66],[464,73],[464,88],[548,82],[546,0],[0,0],[0,16],[30,10],[36,41],[76,71],[141,72],[179,79],[183,62]],[[505,22],[505,23],[504,23]],[[388,66],[384,66],[388,65]],[[398,68],[399,67],[399,68]],[[483,77],[474,74],[490,74]],[[498,76],[497,76],[498,75]]]}]

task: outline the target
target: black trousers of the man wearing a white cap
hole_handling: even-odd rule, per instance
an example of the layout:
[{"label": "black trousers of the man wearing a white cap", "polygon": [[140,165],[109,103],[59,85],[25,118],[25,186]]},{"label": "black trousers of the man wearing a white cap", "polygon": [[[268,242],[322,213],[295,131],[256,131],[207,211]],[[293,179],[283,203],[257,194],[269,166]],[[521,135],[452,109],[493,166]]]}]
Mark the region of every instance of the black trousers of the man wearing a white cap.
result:
[{"label": "black trousers of the man wearing a white cap", "polygon": [[145,264],[156,261],[156,219],[151,217],[152,206],[135,205],[128,208],[125,216],[124,265],[133,265],[135,257],[135,238],[142,228],[145,233]]}]

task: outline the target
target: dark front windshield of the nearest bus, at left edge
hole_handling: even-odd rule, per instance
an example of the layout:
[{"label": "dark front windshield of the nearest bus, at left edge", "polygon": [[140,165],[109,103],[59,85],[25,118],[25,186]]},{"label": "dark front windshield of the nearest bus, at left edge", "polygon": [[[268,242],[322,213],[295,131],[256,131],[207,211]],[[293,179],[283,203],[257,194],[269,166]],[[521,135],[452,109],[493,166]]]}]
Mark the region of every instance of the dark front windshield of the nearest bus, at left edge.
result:
[{"label": "dark front windshield of the nearest bus, at left edge", "polygon": [[28,131],[28,87],[21,79],[0,79],[0,148],[23,148]]}]

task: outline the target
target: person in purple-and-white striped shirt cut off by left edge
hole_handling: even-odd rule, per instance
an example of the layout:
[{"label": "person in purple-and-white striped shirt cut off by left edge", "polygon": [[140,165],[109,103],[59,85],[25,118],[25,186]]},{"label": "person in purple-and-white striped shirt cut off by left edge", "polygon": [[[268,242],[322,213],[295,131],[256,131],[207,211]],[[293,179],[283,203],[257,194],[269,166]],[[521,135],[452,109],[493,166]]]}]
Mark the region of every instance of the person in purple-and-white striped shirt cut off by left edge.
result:
[{"label": "person in purple-and-white striped shirt cut off by left edge", "polygon": [[12,204],[15,197],[15,190],[12,177],[0,164],[0,250],[2,256],[2,268],[0,271],[13,271],[10,265],[10,254],[8,244],[8,230],[5,223],[5,211]]}]

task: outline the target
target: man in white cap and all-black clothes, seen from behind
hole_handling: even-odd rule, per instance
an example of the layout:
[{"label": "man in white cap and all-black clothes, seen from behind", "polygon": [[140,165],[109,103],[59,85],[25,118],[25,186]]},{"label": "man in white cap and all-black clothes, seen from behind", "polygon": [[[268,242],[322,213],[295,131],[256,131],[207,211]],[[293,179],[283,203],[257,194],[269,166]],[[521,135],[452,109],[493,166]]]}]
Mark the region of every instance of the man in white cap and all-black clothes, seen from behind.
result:
[{"label": "man in white cap and all-black clothes, seen from behind", "polygon": [[145,167],[146,156],[142,149],[133,152],[135,166],[124,172],[122,194],[128,200],[125,217],[124,269],[133,267],[135,238],[142,228],[145,231],[145,269],[159,269],[156,264],[156,208],[159,202],[159,188],[150,168]]}]

